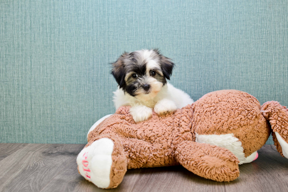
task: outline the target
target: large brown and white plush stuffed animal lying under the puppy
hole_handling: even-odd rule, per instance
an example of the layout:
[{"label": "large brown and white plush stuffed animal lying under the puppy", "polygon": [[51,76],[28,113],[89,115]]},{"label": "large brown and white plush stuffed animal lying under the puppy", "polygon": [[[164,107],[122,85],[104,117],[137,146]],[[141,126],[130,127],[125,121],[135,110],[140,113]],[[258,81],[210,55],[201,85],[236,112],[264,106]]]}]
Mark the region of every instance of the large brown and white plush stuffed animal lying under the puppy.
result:
[{"label": "large brown and white plush stuffed animal lying under the puppy", "polygon": [[[104,120],[105,119],[105,120]],[[260,106],[250,94],[215,91],[174,113],[135,123],[129,106],[100,119],[77,157],[78,171],[100,188],[117,187],[127,169],[182,165],[215,181],[232,181],[270,132],[288,158],[288,110],[276,101]]]}]

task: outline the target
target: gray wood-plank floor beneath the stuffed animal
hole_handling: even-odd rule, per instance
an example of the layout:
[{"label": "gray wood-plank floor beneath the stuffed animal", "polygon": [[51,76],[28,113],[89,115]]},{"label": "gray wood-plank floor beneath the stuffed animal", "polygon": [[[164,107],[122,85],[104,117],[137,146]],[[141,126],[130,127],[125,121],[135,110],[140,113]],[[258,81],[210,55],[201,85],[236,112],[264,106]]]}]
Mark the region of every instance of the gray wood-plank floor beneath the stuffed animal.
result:
[{"label": "gray wood-plank floor beneath the stuffed animal", "polygon": [[76,156],[85,145],[0,143],[0,191],[288,191],[288,159],[265,145],[259,158],[240,165],[240,177],[216,182],[182,166],[127,171],[118,188],[104,190],[77,171]]}]

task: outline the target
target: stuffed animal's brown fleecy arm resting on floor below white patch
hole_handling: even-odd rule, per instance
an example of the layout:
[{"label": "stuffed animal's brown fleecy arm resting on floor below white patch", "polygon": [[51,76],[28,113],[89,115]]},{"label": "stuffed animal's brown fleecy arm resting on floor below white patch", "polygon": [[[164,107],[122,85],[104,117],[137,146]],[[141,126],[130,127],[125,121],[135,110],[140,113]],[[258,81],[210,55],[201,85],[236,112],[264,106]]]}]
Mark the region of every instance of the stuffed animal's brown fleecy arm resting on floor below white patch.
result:
[{"label": "stuffed animal's brown fleecy arm resting on floor below white patch", "polygon": [[239,160],[226,148],[183,141],[177,145],[175,158],[189,171],[207,179],[233,181],[239,176]]}]

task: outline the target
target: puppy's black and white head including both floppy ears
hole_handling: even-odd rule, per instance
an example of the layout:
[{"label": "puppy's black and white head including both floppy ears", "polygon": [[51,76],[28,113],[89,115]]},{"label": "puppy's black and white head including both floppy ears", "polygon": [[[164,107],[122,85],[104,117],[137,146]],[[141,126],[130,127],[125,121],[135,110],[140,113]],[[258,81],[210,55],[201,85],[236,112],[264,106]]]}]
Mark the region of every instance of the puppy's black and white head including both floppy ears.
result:
[{"label": "puppy's black and white head including both floppy ears", "polygon": [[154,98],[170,79],[174,64],[157,49],[122,54],[112,63],[113,74],[120,88],[139,100]]}]

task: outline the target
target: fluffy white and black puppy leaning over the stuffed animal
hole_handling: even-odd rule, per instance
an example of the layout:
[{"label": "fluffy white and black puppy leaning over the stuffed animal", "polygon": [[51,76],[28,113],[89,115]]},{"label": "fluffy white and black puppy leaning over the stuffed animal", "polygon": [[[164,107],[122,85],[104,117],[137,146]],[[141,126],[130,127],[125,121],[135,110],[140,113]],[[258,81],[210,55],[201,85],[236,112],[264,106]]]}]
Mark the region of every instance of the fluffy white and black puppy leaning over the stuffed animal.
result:
[{"label": "fluffy white and black puppy leaning over the stuffed animal", "polygon": [[116,109],[129,105],[135,122],[145,121],[155,113],[165,114],[194,101],[188,94],[167,83],[174,63],[158,49],[124,52],[112,63],[111,74],[119,87],[114,92]]}]

